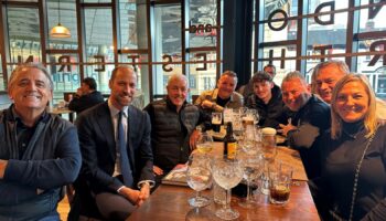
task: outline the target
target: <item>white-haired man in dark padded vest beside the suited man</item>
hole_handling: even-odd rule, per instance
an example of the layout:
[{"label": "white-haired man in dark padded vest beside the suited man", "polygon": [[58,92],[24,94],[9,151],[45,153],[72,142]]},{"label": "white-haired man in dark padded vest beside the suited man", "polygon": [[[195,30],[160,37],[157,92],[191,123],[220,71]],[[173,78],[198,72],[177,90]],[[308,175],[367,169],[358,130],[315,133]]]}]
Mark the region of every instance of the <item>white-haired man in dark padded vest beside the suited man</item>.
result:
[{"label": "white-haired man in dark padded vest beside the suited man", "polygon": [[204,119],[199,107],[186,102],[189,84],[184,75],[171,75],[167,91],[167,98],[144,107],[152,125],[153,171],[158,181],[175,166],[187,161],[194,148],[195,127]]}]

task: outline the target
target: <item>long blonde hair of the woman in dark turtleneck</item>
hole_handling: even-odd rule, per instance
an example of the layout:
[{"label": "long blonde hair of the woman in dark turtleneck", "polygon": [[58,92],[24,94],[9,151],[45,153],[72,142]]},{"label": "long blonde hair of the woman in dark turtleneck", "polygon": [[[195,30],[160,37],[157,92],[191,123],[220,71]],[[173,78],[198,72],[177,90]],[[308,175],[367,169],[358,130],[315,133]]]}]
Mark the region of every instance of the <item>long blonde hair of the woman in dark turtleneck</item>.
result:
[{"label": "long blonde hair of the woman in dark turtleneck", "polygon": [[332,99],[331,99],[331,138],[337,139],[342,134],[342,122],[343,119],[339,116],[336,112],[336,99],[337,94],[341,92],[344,85],[350,82],[360,82],[364,87],[368,95],[368,110],[365,114],[364,125],[367,130],[366,138],[371,137],[377,127],[377,117],[375,114],[376,110],[376,98],[371,87],[367,77],[363,74],[350,73],[342,77],[335,85],[332,91]]}]

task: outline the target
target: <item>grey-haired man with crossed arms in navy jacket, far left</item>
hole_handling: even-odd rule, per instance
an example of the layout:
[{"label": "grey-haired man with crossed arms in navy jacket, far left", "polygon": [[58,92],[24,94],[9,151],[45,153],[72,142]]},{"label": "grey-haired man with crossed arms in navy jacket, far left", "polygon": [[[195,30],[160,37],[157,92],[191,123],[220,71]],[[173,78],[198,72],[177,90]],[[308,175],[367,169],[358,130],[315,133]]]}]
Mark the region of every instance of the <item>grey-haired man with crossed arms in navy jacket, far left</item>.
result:
[{"label": "grey-haired man with crossed arms in navy jacket, far left", "polygon": [[62,187],[82,158],[76,128],[45,110],[53,82],[41,64],[22,64],[9,81],[13,104],[0,113],[0,220],[60,220]]}]

